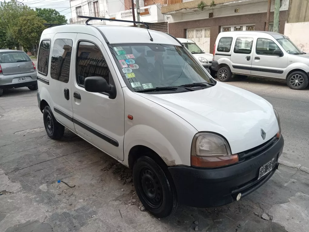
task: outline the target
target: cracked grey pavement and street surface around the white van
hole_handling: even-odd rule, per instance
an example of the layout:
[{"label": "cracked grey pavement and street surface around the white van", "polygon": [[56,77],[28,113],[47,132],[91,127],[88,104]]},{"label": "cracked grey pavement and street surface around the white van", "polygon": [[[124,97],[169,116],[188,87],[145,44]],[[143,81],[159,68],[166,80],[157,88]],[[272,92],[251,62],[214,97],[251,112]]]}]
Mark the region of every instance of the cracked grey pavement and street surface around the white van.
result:
[{"label": "cracked grey pavement and street surface around the white van", "polygon": [[[229,84],[274,105],[286,143],[281,158],[309,167],[309,89],[256,79]],[[281,165],[239,202],[207,209],[181,206],[159,219],[139,209],[131,170],[68,130],[60,141],[51,140],[42,116],[36,91],[19,88],[0,97],[1,232],[309,231],[309,174],[301,170]]]}]

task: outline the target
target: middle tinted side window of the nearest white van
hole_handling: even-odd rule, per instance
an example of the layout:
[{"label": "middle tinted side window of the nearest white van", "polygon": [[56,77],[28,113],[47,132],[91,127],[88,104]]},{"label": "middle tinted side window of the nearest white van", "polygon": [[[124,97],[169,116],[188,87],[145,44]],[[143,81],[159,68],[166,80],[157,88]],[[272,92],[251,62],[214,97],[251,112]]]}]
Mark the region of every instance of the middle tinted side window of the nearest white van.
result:
[{"label": "middle tinted side window of the nearest white van", "polygon": [[73,41],[69,39],[55,40],[50,64],[51,78],[69,82],[72,45]]}]

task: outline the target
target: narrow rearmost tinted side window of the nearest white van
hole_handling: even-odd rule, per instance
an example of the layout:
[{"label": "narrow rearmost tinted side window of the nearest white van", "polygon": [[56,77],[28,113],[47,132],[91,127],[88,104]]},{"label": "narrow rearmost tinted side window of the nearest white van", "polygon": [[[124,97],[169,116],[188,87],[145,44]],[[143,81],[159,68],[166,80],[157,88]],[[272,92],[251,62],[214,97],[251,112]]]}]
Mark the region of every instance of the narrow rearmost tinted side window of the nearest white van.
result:
[{"label": "narrow rearmost tinted side window of the nearest white van", "polygon": [[40,74],[47,76],[49,62],[50,40],[42,40],[38,55],[37,70]]}]

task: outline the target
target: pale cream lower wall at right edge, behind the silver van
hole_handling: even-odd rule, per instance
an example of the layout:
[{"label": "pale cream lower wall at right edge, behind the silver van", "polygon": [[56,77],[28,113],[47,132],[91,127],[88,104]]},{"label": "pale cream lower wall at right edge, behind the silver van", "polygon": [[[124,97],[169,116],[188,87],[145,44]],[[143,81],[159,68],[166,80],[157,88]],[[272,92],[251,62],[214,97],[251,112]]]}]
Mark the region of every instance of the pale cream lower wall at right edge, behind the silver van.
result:
[{"label": "pale cream lower wall at right edge, behind the silver van", "polygon": [[[309,52],[309,40],[307,33],[309,31],[309,22],[286,23],[284,35],[290,38],[293,43],[302,51]],[[304,33],[305,32],[305,33]]]}]

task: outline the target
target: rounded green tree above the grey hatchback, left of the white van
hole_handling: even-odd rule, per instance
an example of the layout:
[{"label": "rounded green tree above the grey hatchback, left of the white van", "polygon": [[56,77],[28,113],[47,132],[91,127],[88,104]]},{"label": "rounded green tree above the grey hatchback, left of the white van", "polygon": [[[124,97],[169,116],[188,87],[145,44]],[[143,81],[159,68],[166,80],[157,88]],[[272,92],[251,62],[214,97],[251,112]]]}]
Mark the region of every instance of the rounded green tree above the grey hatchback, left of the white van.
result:
[{"label": "rounded green tree above the grey hatchback, left of the white van", "polygon": [[10,33],[20,45],[30,48],[40,42],[41,34],[46,28],[44,23],[44,19],[37,15],[19,17],[15,24],[11,25]]}]

